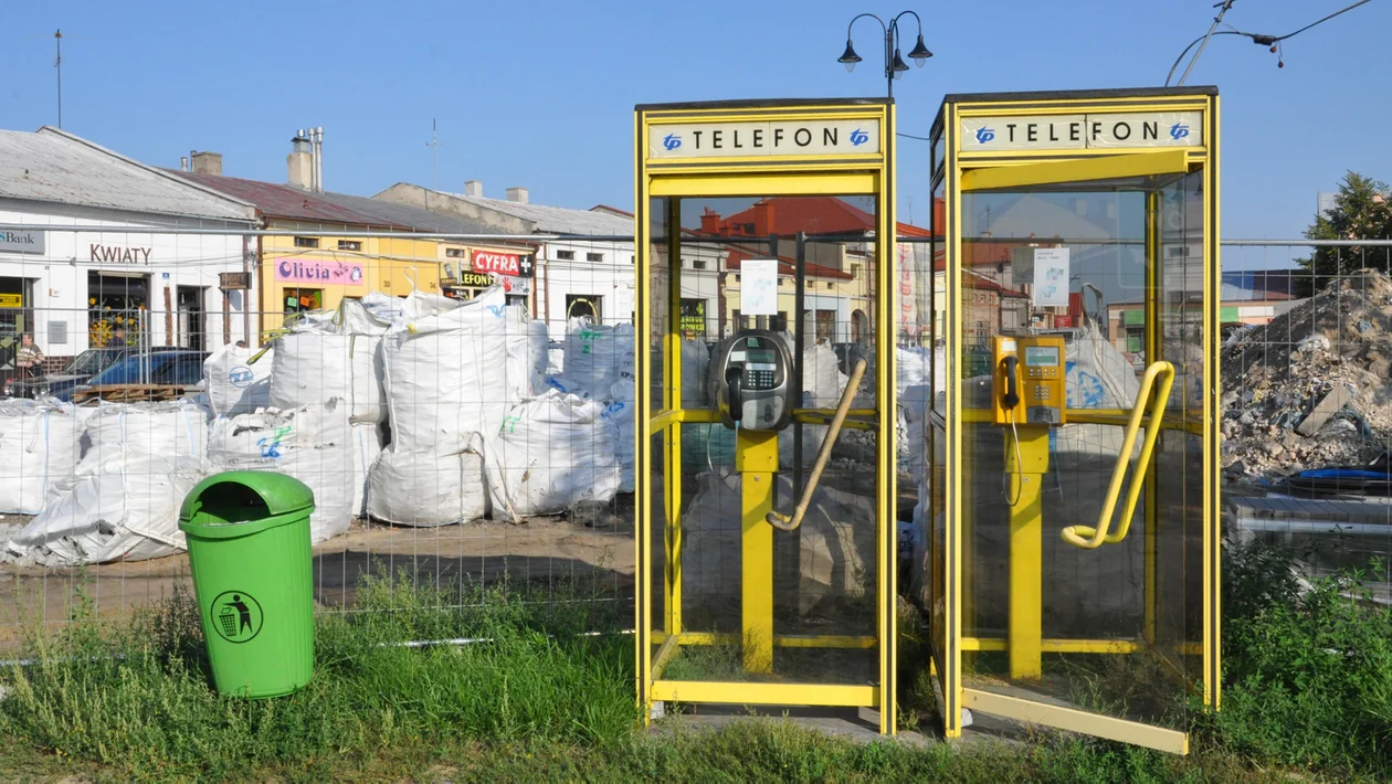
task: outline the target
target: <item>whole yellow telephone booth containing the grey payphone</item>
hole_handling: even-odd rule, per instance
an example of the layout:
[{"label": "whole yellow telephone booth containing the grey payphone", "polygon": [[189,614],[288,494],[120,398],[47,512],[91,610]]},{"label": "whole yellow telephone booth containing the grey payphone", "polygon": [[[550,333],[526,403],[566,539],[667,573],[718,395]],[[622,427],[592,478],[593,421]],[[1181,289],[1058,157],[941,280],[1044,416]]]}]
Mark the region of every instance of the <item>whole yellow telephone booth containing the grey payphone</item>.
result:
[{"label": "whole yellow telephone booth containing the grey payphone", "polygon": [[635,136],[639,700],[892,734],[894,104],[639,106]]}]

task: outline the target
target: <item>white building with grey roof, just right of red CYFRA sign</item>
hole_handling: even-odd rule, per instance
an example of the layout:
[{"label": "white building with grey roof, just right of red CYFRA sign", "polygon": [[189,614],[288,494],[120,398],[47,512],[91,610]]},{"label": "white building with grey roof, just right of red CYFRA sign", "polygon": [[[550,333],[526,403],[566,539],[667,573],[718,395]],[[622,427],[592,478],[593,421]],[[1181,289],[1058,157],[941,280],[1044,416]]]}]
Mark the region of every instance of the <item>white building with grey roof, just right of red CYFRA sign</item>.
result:
[{"label": "white building with grey roof, just right of red CYFRA sign", "polygon": [[[568,235],[536,242],[537,312],[532,316],[546,320],[551,340],[564,338],[569,316],[590,315],[606,324],[633,323],[633,241],[582,238],[632,237],[629,213],[603,206],[580,210],[533,205],[526,188],[508,188],[507,199],[490,199],[476,180],[465,182],[464,194],[400,182],[374,198],[455,214],[511,234]],[[682,259],[682,306],[683,313],[693,316],[685,323],[704,323],[706,334],[715,338],[725,252],[717,245],[693,245],[689,255]]]}]

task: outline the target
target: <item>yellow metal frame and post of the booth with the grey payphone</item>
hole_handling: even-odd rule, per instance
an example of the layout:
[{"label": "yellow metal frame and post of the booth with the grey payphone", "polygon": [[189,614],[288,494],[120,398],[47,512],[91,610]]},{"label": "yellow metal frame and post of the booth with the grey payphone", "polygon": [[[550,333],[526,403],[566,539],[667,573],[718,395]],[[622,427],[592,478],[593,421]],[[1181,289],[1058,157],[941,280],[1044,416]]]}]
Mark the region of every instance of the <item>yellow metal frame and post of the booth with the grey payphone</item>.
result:
[{"label": "yellow metal frame and post of the booth with the grey payphone", "polygon": [[[693,157],[693,159],[651,159],[647,153],[649,128],[656,124],[688,123],[750,123],[750,121],[877,121],[880,128],[877,153],[866,155],[823,155],[823,156],[763,156],[748,157]],[[773,528],[761,522],[771,504],[771,494],[752,486],[763,483],[771,487],[773,469],[777,468],[777,440],[760,440],[748,432],[739,432],[739,460],[746,462],[743,483],[745,519],[757,519],[757,525],[746,524],[743,539],[743,636],[688,632],[681,618],[681,439],[682,425],[713,423],[718,418],[711,409],[685,408],[681,400],[681,384],[665,383],[661,401],[653,400],[649,379],[653,379],[654,358],[650,341],[660,340],[663,345],[663,377],[681,377],[681,331],[677,323],[681,298],[681,267],[668,266],[670,301],[667,309],[670,323],[664,334],[649,334],[653,324],[653,274],[660,270],[653,258],[651,223],[664,217],[667,226],[679,226],[678,199],[688,196],[786,196],[786,195],[871,195],[878,199],[876,210],[876,258],[881,263],[876,269],[876,344],[894,345],[892,292],[896,291],[894,277],[895,256],[895,109],[888,100],[848,102],[731,102],[704,104],[661,104],[640,106],[633,116],[633,138],[636,156],[635,182],[635,234],[636,234],[636,306],[639,324],[636,345],[638,370],[638,433],[636,433],[636,692],[644,707],[644,716],[651,716],[656,700],[713,702],[734,705],[805,705],[805,706],[862,706],[880,712],[880,731],[892,735],[896,730],[895,673],[896,661],[896,460],[895,422],[883,416],[881,411],[894,411],[895,401],[895,352],[883,351],[876,363],[876,389],[878,409],[852,409],[844,426],[869,429],[877,433],[880,480],[876,490],[876,634],[873,636],[778,635],[771,618],[773,579]],[[650,216],[651,199],[665,198],[665,216]],[[668,259],[679,259],[679,233],[670,233]],[[796,409],[793,419],[821,423],[834,415],[834,409]],[[654,436],[661,436],[661,464],[665,469],[661,482],[661,504],[665,515],[661,547],[661,590],[664,613],[653,618],[656,581],[656,532],[653,531],[653,501],[658,489],[653,480]],[[660,628],[654,628],[658,625]],[[756,645],[750,645],[750,638]],[[664,680],[667,664],[683,645],[745,645],[745,664],[752,674],[764,673],[771,664],[775,648],[841,648],[866,649],[878,653],[878,678],[873,685],[835,684],[788,684],[763,681],[672,681]],[[657,646],[654,649],[654,646]]]}]

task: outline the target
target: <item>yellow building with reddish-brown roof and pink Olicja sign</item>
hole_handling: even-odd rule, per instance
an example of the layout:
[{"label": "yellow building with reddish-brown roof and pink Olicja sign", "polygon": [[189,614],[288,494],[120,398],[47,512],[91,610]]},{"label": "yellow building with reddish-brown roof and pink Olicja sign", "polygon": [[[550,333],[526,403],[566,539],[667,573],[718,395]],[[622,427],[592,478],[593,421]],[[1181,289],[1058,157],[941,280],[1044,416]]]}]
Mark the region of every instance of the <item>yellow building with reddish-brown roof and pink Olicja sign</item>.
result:
[{"label": "yellow building with reddish-brown roof and pink Olicja sign", "polygon": [[[181,174],[255,205],[266,230],[291,233],[258,237],[255,242],[255,288],[263,334],[280,329],[285,316],[331,311],[342,299],[356,299],[369,291],[405,297],[420,290],[466,299],[493,283],[491,273],[475,272],[484,269],[480,262],[500,258],[515,262],[535,253],[525,242],[415,240],[412,233],[500,233],[416,206],[216,173]],[[334,233],[362,235],[334,237]],[[532,305],[529,281],[509,279],[509,302]]]}]

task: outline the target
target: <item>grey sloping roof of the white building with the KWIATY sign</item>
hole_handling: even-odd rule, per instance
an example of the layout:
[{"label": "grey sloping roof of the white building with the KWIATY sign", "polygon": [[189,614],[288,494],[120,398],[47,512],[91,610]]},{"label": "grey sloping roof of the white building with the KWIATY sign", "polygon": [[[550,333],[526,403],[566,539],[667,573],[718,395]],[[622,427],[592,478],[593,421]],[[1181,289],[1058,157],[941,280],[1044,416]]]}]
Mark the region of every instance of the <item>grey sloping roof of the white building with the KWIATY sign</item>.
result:
[{"label": "grey sloping roof of the white building with the KWIATY sign", "polygon": [[255,209],[242,201],[47,125],[32,134],[0,131],[0,198],[178,219],[256,220]]}]

